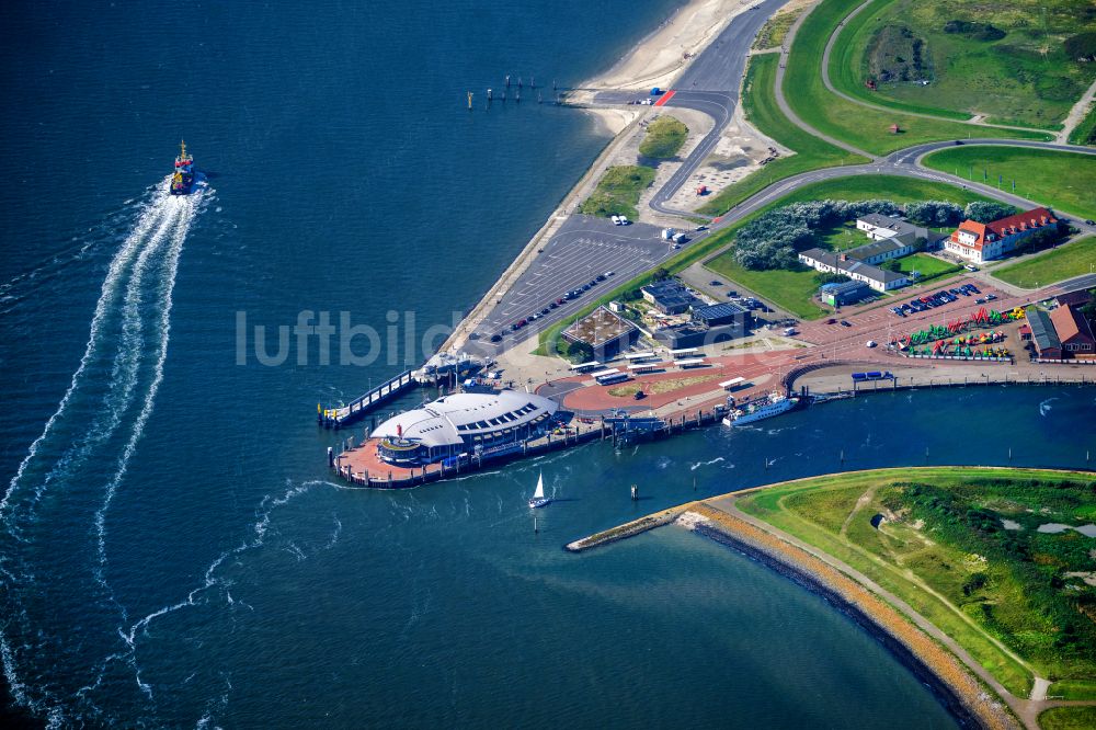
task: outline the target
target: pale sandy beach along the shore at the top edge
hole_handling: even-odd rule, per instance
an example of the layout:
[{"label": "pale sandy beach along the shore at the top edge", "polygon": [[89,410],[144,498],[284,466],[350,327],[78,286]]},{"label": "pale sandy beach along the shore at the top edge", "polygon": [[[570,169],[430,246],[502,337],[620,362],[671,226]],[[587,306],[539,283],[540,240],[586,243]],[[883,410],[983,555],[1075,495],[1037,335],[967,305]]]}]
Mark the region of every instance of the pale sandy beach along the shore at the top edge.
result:
[{"label": "pale sandy beach along the shore at the top edge", "polygon": [[719,35],[732,18],[749,10],[750,0],[693,0],[639,42],[584,89],[670,88],[685,62]]}]

